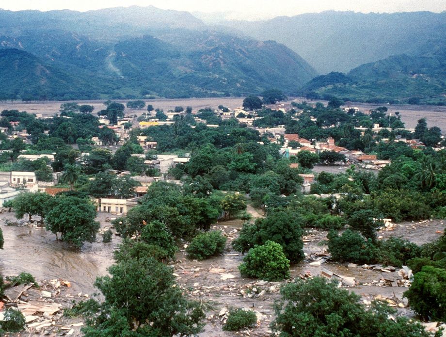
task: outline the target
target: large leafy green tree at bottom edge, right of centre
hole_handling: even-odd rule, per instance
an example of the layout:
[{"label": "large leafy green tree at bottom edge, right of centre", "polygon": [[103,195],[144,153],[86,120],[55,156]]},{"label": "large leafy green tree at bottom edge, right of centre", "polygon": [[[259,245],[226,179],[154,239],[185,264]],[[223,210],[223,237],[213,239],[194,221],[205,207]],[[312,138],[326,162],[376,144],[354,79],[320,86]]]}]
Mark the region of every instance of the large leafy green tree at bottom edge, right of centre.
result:
[{"label": "large leafy green tree at bottom edge, right of centre", "polygon": [[281,337],[433,337],[418,322],[405,317],[390,320],[389,315],[395,315],[396,310],[384,302],[374,301],[366,310],[358,302],[359,295],[338,288],[335,280],[296,279],[285,285],[280,293],[281,299],[274,305],[276,319],[271,327],[280,332]]}]

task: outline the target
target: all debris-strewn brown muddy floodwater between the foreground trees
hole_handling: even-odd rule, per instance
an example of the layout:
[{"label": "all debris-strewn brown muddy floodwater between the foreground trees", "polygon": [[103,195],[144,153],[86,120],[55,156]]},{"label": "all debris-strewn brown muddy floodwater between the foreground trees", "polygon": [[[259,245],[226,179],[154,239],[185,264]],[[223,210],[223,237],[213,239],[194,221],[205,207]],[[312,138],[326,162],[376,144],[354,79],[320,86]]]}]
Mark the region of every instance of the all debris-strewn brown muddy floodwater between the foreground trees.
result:
[{"label": "all debris-strewn brown muddy floodwater between the foreground trees", "polygon": [[[248,212],[254,217],[263,216],[260,211],[251,207],[248,207]],[[110,226],[105,221],[106,216],[109,214],[99,213],[97,217],[103,228]],[[69,289],[71,293],[82,291],[92,294],[97,291],[93,283],[97,276],[107,273],[107,268],[113,262],[112,252],[121,242],[118,236],[113,236],[111,243],[103,243],[101,235],[98,235],[96,242],[85,244],[81,250],[76,250],[56,241],[55,236],[44,228],[6,226],[6,219],[15,220],[14,213],[2,213],[0,219],[5,239],[4,250],[0,251],[0,273],[5,276],[28,272],[38,281],[53,278],[68,280],[72,284]],[[280,296],[280,287],[304,275],[318,276],[323,270],[354,277],[356,285],[345,289],[359,294],[364,303],[382,296],[398,308],[399,315],[413,316],[412,311],[404,305],[403,292],[407,287],[383,287],[379,283],[383,277],[400,279],[398,269],[384,273],[360,266],[349,268],[347,264],[330,261],[310,265],[315,256],[325,254],[327,249],[323,242],[327,232],[318,229],[306,229],[303,237],[306,259],[302,263],[291,265],[290,280],[264,282],[241,277],[238,266],[243,255],[234,251],[231,243],[238,237],[242,224],[240,220],[233,220],[212,226],[212,229],[222,230],[228,238],[223,255],[204,261],[191,260],[186,256],[185,246],[181,245],[176,261],[172,263],[181,289],[191,299],[206,304],[206,326],[200,336],[237,336],[223,331],[222,327],[226,310],[240,307],[251,308],[257,314],[257,326],[250,330],[249,336],[269,336],[269,325],[274,319],[272,305]],[[392,231],[380,231],[378,235],[382,238],[403,237],[422,244],[440,237],[444,228],[442,220],[408,222],[397,224]],[[74,336],[80,336],[80,332],[76,331]]]}]

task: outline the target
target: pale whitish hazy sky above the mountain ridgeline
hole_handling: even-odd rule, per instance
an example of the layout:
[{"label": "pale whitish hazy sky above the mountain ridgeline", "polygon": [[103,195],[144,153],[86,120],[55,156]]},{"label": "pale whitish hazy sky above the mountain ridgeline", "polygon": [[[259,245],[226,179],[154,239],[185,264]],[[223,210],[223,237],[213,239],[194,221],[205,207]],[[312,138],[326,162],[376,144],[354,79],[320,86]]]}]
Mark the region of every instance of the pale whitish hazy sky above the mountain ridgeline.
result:
[{"label": "pale whitish hazy sky above the mountain ridgeline", "polygon": [[108,7],[153,5],[189,12],[227,12],[227,18],[263,19],[325,10],[355,12],[413,12],[446,10],[445,0],[0,0],[0,8],[13,11],[71,9],[88,11]]}]

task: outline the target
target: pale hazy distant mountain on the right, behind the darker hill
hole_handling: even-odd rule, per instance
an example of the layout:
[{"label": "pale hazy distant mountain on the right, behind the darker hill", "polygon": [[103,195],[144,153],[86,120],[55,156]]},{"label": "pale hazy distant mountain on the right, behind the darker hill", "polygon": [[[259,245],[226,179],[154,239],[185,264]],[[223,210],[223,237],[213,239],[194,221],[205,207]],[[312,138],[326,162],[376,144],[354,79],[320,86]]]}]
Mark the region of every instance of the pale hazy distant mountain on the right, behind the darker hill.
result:
[{"label": "pale hazy distant mountain on the right, behind the darker hill", "polygon": [[219,24],[255,39],[283,43],[321,74],[348,72],[393,55],[415,56],[432,46],[432,41],[446,39],[446,12],[327,11]]}]

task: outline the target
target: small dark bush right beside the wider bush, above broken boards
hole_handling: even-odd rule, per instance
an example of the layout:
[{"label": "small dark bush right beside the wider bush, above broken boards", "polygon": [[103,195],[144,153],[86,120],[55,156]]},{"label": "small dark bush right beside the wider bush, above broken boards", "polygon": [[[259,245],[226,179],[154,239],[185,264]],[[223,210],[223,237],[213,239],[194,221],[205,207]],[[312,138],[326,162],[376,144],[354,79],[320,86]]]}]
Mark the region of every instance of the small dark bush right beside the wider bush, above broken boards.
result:
[{"label": "small dark bush right beside the wider bush, above broken boards", "polygon": [[407,240],[390,238],[380,244],[380,262],[383,264],[401,267],[407,260],[419,257],[420,254],[421,248]]}]

